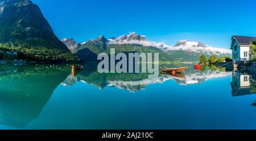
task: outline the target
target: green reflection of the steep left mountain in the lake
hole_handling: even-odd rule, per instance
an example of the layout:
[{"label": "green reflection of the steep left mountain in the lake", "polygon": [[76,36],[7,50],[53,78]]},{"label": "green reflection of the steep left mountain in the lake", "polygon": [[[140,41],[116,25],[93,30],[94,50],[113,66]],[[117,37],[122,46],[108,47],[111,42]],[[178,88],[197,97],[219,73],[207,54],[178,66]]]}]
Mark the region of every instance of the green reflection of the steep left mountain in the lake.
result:
[{"label": "green reflection of the steep left mountain in the lake", "polygon": [[61,65],[0,65],[0,123],[25,127],[38,118],[69,73]]}]

